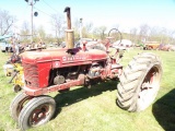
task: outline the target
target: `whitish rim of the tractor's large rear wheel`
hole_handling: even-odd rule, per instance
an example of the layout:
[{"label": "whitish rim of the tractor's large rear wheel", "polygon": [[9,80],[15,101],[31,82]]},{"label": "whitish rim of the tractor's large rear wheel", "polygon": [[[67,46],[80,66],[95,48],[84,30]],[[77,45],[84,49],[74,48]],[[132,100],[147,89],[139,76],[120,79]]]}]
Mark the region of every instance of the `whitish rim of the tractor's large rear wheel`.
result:
[{"label": "whitish rim of the tractor's large rear wheel", "polygon": [[145,75],[138,95],[138,106],[140,110],[145,109],[155,98],[160,83],[158,67],[153,67]]}]

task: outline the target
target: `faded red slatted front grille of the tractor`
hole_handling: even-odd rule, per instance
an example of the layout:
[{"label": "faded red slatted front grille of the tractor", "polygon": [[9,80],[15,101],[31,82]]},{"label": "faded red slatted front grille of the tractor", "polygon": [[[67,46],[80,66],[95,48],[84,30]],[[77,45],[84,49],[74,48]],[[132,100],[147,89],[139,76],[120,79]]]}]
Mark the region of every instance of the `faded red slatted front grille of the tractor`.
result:
[{"label": "faded red slatted front grille of the tractor", "polygon": [[36,64],[23,63],[25,85],[30,87],[39,87],[38,70]]}]

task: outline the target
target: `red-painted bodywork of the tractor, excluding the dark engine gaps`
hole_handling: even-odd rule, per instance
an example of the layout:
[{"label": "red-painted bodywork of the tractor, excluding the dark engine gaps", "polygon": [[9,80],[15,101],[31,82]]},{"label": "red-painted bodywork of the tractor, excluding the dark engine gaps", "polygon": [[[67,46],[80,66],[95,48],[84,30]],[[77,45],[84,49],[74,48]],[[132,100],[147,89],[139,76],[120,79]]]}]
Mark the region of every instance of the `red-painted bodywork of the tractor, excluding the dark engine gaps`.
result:
[{"label": "red-painted bodywork of the tractor, excluding the dark engine gaps", "polygon": [[[26,51],[22,53],[25,79],[24,91],[27,95],[38,96],[75,85],[83,85],[85,79],[89,76],[86,72],[91,70],[93,64],[101,64],[101,69],[97,68],[97,76],[91,79],[98,76],[102,80],[107,78],[113,79],[118,75],[118,70],[122,69],[116,61],[118,60],[109,58],[105,51],[97,49],[86,51],[85,47],[83,47],[83,49],[73,48],[71,50]],[[81,75],[81,80],[68,79],[63,84],[50,85],[49,81],[52,81],[50,75],[51,71],[56,71],[57,69],[61,71],[61,69],[69,69],[70,67],[80,67],[81,72],[84,72],[83,75]]]}]

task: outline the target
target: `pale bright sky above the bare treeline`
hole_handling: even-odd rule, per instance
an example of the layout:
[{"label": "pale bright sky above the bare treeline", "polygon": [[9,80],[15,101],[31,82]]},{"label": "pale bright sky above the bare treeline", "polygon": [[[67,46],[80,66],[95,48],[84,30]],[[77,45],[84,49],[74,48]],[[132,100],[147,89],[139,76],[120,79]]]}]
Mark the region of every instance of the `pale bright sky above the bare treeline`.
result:
[{"label": "pale bright sky above the bare treeline", "polygon": [[[66,19],[63,10],[71,8],[71,19],[83,19],[83,23],[93,26],[119,26],[122,32],[148,24],[175,29],[175,0],[39,0],[34,4],[33,22],[36,27],[44,26],[51,33],[51,14],[60,14]],[[25,0],[1,0],[0,10],[18,19],[15,32],[24,21],[31,22],[31,5]]]}]

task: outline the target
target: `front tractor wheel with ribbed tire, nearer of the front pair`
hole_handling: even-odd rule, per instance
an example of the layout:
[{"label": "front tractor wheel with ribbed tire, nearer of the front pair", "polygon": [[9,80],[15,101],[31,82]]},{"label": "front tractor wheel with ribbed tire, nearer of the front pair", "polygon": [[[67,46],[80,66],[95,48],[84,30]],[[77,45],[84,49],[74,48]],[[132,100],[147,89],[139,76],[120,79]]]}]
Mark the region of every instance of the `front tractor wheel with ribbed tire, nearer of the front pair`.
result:
[{"label": "front tractor wheel with ribbed tire, nearer of the front pair", "polygon": [[37,127],[49,121],[56,110],[56,102],[49,96],[39,96],[30,100],[19,116],[21,130]]}]

